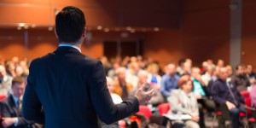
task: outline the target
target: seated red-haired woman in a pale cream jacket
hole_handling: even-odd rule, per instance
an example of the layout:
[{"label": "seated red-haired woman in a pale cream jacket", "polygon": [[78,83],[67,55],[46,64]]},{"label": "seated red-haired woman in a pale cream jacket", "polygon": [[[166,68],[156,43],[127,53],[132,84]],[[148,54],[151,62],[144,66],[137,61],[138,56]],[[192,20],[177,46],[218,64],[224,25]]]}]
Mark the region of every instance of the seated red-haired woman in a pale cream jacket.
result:
[{"label": "seated red-haired woman in a pale cream jacket", "polygon": [[189,114],[192,119],[183,120],[185,127],[199,128],[199,108],[195,94],[192,92],[193,83],[189,75],[184,75],[177,82],[179,89],[173,90],[170,96],[170,113]]}]

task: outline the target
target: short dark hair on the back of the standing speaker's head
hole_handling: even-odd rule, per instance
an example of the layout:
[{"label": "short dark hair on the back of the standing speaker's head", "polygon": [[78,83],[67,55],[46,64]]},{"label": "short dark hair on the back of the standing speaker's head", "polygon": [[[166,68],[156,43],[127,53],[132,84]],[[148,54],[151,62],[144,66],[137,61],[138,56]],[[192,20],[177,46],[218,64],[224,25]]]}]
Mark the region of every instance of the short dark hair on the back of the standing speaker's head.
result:
[{"label": "short dark hair on the back of the standing speaker's head", "polygon": [[84,27],[85,18],[81,9],[67,6],[56,15],[55,30],[59,42],[77,42],[84,32]]}]

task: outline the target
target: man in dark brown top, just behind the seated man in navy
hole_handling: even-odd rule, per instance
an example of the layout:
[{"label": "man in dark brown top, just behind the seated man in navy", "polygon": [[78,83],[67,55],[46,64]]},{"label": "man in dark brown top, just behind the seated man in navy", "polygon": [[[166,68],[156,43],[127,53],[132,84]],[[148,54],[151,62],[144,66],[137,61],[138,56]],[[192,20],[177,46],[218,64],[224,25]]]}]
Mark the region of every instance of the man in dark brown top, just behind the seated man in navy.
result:
[{"label": "man in dark brown top, just behind the seated man in navy", "polygon": [[250,82],[247,79],[245,74],[245,67],[244,65],[237,65],[236,66],[236,74],[231,77],[231,84],[236,86],[236,90],[247,90],[247,87],[250,86]]}]

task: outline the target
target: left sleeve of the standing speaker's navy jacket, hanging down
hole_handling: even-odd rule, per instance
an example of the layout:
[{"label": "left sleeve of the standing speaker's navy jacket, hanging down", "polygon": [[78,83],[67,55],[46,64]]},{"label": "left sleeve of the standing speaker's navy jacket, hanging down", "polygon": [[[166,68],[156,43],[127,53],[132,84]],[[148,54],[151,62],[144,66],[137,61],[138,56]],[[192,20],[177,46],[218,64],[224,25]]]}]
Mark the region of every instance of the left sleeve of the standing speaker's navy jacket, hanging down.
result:
[{"label": "left sleeve of the standing speaker's navy jacket, hanging down", "polygon": [[38,124],[44,124],[44,113],[42,104],[34,90],[33,83],[33,62],[30,67],[30,73],[27,78],[26,90],[22,102],[22,115],[27,120],[32,120]]}]

